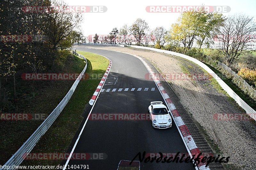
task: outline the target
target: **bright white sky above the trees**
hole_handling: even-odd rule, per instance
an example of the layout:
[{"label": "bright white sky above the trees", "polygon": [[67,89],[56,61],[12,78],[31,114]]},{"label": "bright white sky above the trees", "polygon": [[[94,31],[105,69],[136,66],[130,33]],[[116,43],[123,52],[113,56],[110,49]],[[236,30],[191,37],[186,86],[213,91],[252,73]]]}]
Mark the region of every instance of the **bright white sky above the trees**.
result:
[{"label": "bright white sky above the trees", "polygon": [[142,18],[148,22],[150,29],[157,26],[163,26],[167,30],[170,29],[179,17],[180,13],[149,13],[146,11],[147,6],[229,6],[231,11],[223,13],[224,15],[232,15],[234,13],[244,13],[254,16],[256,19],[256,0],[63,0],[68,5],[81,6],[106,6],[107,12],[104,13],[83,13],[84,21],[81,29],[84,35],[108,34],[114,27],[118,30],[124,24],[130,26],[137,18]]}]

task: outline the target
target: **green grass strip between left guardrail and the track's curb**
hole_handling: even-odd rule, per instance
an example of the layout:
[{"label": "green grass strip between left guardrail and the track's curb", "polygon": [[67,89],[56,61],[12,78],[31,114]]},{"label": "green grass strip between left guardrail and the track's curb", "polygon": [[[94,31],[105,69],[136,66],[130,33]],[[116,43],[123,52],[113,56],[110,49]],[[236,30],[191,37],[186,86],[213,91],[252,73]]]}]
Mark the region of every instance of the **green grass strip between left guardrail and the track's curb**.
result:
[{"label": "green grass strip between left guardrail and the track's curb", "polygon": [[[108,59],[103,56],[88,52],[77,51],[77,53],[82,54],[87,58],[88,67],[86,73],[90,77],[97,74],[102,78],[109,64]],[[77,62],[73,63],[73,66],[70,68],[70,70],[79,70],[79,72],[81,72],[85,65],[84,61],[78,57],[76,57],[75,61]],[[67,152],[68,146],[70,145],[73,137],[76,134],[76,131],[79,129],[80,124],[84,119],[83,113],[85,106],[88,105],[88,102],[91,99],[95,89],[97,88],[101,78],[89,78],[88,80],[80,80],[66,107],[52,124],[51,128],[48,129],[44,136],[39,140],[31,153]],[[69,88],[70,86],[68,89]],[[61,89],[54,90],[56,91],[51,91],[51,93],[55,96],[58,96],[59,93],[64,93]],[[57,104],[58,102],[52,103],[54,107],[56,107]],[[45,108],[47,108],[47,106],[45,106]],[[58,165],[60,162],[61,160],[24,160],[22,164]]]}]

